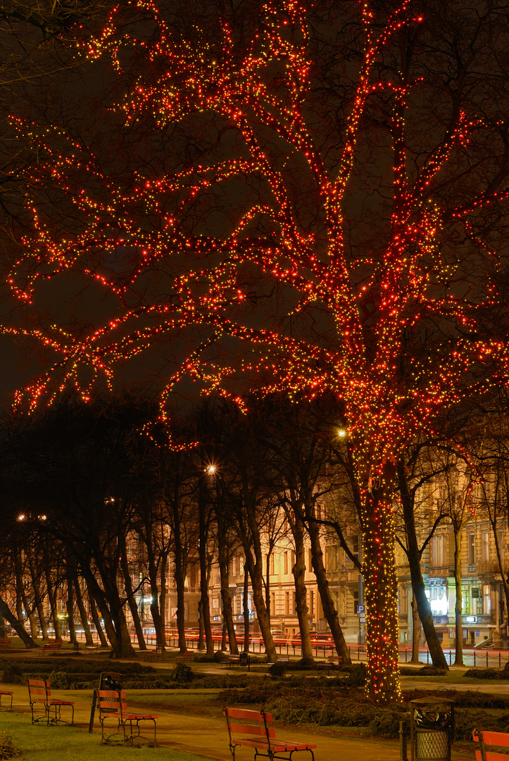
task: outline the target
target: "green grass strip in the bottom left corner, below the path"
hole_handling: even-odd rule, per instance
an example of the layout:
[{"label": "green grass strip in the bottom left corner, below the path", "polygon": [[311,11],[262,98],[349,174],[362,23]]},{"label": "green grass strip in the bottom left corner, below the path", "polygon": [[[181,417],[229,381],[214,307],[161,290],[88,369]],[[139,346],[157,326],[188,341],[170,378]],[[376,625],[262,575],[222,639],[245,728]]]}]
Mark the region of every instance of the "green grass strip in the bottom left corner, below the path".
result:
[{"label": "green grass strip in the bottom left corner, below the path", "polygon": [[203,761],[203,756],[168,748],[144,748],[141,756],[138,747],[123,743],[118,747],[100,745],[97,730],[88,734],[85,729],[65,725],[32,725],[30,716],[10,712],[0,714],[0,745],[6,737],[11,737],[14,748],[22,751],[17,757],[27,761]]}]

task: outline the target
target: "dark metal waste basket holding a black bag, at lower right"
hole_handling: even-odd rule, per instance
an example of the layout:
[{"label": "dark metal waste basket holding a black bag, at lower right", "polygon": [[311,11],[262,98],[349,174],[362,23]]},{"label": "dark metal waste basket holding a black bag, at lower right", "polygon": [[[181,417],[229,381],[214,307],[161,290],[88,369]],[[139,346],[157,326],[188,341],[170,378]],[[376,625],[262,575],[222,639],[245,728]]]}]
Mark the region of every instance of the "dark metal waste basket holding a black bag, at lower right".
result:
[{"label": "dark metal waste basket holding a black bag, at lower right", "polygon": [[450,761],[454,703],[438,696],[410,701],[411,761]]}]

